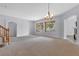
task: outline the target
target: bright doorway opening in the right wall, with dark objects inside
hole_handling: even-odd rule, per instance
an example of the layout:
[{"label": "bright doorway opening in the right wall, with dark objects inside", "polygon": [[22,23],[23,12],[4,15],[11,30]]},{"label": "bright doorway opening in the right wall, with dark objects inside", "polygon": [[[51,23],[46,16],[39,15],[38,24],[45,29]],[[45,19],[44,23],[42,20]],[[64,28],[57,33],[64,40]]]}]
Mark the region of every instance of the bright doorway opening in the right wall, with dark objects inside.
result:
[{"label": "bright doorway opening in the right wall, with dark objects inside", "polygon": [[75,29],[77,30],[77,17],[71,16],[64,20],[64,39],[76,40],[76,35],[74,36]]}]

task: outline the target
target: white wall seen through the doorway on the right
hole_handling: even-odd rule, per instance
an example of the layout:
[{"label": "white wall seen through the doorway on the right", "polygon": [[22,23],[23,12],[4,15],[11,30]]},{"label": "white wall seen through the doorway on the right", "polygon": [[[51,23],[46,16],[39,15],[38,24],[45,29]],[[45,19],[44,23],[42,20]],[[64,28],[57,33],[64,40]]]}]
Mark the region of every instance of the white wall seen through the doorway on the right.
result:
[{"label": "white wall seen through the doorway on the right", "polygon": [[67,35],[74,34],[75,22],[77,21],[76,16],[68,17],[64,19],[64,39],[67,39]]}]

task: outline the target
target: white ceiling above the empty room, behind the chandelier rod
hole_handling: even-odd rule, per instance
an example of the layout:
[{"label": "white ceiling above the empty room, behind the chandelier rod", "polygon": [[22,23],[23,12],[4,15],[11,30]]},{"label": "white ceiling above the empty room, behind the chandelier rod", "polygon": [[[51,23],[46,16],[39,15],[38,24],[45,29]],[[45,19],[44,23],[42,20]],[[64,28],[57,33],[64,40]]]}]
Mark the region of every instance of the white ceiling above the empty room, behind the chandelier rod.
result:
[{"label": "white ceiling above the empty room, behind the chandelier rod", "polygon": [[[50,12],[59,15],[77,6],[77,3],[51,3]],[[27,20],[39,20],[47,15],[47,3],[0,3],[0,14]]]}]

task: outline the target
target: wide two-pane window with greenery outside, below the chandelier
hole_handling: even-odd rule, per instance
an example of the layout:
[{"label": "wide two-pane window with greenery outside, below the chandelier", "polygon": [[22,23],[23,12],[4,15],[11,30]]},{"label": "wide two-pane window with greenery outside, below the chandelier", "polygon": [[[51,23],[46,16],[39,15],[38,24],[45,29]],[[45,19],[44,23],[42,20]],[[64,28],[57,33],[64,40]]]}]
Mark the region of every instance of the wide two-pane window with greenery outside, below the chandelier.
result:
[{"label": "wide two-pane window with greenery outside, below the chandelier", "polygon": [[55,21],[36,23],[36,32],[50,32],[53,30]]}]

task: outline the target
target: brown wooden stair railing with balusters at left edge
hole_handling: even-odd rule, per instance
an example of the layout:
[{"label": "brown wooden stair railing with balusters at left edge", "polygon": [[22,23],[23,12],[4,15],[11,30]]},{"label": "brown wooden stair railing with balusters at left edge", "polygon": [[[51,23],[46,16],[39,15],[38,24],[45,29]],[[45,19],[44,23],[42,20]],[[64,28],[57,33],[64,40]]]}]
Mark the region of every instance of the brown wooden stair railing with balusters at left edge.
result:
[{"label": "brown wooden stair railing with balusters at left edge", "polygon": [[3,38],[3,43],[9,44],[9,28],[5,28],[2,25],[0,25],[0,37]]}]

